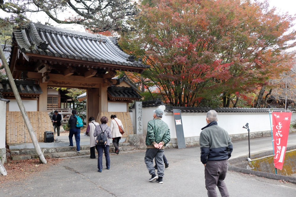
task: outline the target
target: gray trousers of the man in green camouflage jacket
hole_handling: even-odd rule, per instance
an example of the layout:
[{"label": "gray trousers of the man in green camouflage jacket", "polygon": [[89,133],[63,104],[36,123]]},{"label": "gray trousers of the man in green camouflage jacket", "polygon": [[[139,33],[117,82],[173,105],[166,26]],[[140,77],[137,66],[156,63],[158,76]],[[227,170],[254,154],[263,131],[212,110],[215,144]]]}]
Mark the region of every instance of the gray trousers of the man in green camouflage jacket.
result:
[{"label": "gray trousers of the man in green camouflage jacket", "polygon": [[153,159],[155,158],[155,162],[157,164],[157,175],[158,177],[164,176],[165,165],[163,162],[163,153],[164,149],[146,149],[145,163],[150,175],[155,174],[155,168],[153,166]]}]

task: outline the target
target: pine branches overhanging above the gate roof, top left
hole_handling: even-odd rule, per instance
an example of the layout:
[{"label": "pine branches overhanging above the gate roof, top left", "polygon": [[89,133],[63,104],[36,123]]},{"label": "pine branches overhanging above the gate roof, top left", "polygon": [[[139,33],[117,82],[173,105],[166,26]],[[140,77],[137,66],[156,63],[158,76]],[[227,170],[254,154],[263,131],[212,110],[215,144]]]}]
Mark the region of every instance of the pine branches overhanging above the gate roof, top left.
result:
[{"label": "pine branches overhanging above the gate roof, top left", "polygon": [[0,9],[18,24],[28,22],[31,13],[44,12],[54,22],[83,25],[95,33],[128,30],[139,12],[131,0],[0,0]]}]

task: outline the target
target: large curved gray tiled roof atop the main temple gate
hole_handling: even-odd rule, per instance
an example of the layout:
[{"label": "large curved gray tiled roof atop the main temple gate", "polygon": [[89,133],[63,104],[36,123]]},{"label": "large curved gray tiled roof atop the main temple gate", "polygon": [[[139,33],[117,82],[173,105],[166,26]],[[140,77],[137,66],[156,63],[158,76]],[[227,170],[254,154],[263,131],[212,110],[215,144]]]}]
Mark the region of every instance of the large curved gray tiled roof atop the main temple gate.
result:
[{"label": "large curved gray tiled roof atop the main temple gate", "polygon": [[[141,59],[124,53],[116,37],[67,30],[30,23],[14,30],[15,40],[24,53],[37,53],[83,61],[149,68]],[[132,68],[131,68],[132,69]]]}]

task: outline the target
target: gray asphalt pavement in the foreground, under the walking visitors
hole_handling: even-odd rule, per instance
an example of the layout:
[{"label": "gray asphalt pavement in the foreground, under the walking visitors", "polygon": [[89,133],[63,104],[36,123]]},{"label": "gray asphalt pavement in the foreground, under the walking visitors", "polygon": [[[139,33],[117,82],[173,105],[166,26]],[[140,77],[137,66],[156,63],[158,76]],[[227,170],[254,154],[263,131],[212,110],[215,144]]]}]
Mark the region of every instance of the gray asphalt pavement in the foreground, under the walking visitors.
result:
[{"label": "gray asphalt pavement in the foreground, under the walking visitors", "polygon": [[[111,169],[102,173],[97,172],[96,159],[65,159],[39,176],[1,186],[0,196],[207,197],[199,146],[165,150],[170,165],[163,184],[148,181],[144,155],[111,155]],[[233,197],[295,197],[296,193],[294,184],[237,172],[228,172],[226,185]]]}]

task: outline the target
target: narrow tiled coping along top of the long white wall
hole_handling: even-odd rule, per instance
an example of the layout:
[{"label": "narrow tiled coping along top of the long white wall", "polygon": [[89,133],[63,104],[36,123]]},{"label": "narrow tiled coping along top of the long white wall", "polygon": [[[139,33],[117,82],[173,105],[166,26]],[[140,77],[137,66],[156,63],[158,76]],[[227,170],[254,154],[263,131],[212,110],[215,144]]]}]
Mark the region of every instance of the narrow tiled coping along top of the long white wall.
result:
[{"label": "narrow tiled coping along top of the long white wall", "polygon": [[215,110],[216,112],[232,112],[232,113],[268,113],[269,110],[273,111],[284,111],[283,108],[207,108],[207,107],[175,107],[166,106],[165,110],[167,112],[173,112],[173,109],[180,109],[183,113],[206,113],[210,110]]}]

